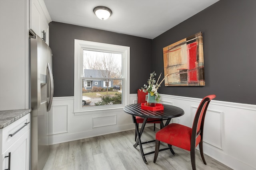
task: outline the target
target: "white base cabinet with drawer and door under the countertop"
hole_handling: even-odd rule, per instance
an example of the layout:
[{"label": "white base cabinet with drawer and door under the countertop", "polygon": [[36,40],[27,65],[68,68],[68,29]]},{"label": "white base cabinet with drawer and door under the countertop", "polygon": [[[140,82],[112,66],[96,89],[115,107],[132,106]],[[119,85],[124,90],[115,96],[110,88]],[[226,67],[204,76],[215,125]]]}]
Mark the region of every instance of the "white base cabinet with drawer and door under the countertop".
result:
[{"label": "white base cabinet with drawer and door under the countertop", "polygon": [[0,170],[29,170],[30,113],[0,129]]}]

